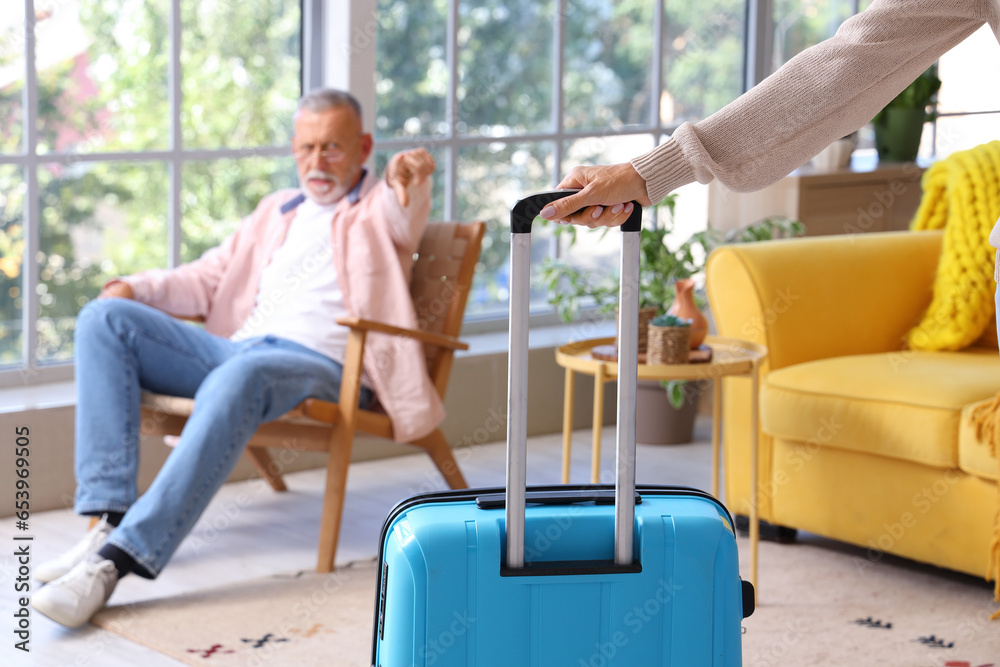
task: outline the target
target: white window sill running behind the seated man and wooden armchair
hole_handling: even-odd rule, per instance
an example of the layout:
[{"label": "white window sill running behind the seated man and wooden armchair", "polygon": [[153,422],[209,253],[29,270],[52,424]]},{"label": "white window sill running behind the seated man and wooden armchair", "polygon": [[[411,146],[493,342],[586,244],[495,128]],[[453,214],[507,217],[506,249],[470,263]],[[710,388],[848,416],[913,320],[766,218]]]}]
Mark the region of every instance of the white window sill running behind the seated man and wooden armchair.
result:
[{"label": "white window sill running behind the seated man and wooden armchair", "polygon": [[[614,335],[615,323],[612,321],[533,327],[529,332],[528,346],[532,349],[554,348],[573,340]],[[469,349],[460,350],[456,358],[506,353],[509,345],[506,331],[470,334],[462,336],[462,340],[469,344]],[[0,389],[0,414],[64,408],[75,404],[76,389],[72,380]]]}]

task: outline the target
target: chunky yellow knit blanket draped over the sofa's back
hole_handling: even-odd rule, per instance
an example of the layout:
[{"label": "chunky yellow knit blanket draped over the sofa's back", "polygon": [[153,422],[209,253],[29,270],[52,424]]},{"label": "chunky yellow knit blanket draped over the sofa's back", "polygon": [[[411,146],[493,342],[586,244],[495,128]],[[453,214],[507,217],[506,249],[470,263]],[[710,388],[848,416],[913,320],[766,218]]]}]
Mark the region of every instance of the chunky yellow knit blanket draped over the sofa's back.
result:
[{"label": "chunky yellow knit blanket draped over the sofa's back", "polygon": [[961,350],[993,316],[995,251],[990,231],[1000,217],[1000,141],[953,153],[924,172],[914,230],[944,229],[934,294],[907,335],[916,350]]}]

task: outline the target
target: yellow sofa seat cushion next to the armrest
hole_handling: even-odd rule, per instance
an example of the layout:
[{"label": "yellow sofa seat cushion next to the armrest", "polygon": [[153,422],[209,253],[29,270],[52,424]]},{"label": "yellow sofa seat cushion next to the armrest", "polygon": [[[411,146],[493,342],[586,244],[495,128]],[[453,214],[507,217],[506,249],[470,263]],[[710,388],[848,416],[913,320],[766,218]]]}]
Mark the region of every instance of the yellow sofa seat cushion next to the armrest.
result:
[{"label": "yellow sofa seat cushion next to the armrest", "polygon": [[962,409],[998,391],[996,350],[821,359],[767,374],[761,428],[817,447],[954,468]]}]

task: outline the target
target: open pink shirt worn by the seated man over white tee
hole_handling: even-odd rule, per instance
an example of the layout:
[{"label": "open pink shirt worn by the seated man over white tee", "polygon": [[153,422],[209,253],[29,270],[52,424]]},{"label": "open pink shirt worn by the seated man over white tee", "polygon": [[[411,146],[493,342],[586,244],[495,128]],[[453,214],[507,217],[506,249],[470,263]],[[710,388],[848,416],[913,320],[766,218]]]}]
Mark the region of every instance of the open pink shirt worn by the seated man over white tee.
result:
[{"label": "open pink shirt worn by the seated man over white tee", "polygon": [[[355,317],[417,328],[410,273],[430,212],[430,179],[409,189],[403,208],[384,180],[366,174],[356,203],[346,197],[333,214],[333,262],[347,310]],[[299,195],[282,190],[265,197],[219,246],[175,269],[129,276],[135,299],[173,315],[205,319],[205,329],[228,338],[253,312],[261,270],[285,240]],[[419,439],[444,419],[444,407],[427,375],[422,344],[370,333],[364,370],[393,424],[397,442]]]}]

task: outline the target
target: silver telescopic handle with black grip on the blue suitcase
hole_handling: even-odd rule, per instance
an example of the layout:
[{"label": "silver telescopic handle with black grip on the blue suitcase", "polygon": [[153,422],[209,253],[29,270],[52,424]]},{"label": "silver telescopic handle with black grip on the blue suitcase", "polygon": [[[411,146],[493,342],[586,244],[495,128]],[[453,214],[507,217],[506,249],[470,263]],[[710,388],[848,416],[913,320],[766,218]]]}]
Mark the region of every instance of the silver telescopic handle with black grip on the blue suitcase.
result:
[{"label": "silver telescopic handle with black grip on the blue suitcase", "polygon": [[[524,567],[528,454],[528,304],[531,224],[546,205],[577,190],[552,190],[518,201],[510,211],[510,338],[507,370],[507,567]],[[618,302],[618,426],[615,464],[615,563],[632,563],[635,524],[635,398],[638,372],[639,230],[633,202],[622,225]]]}]

